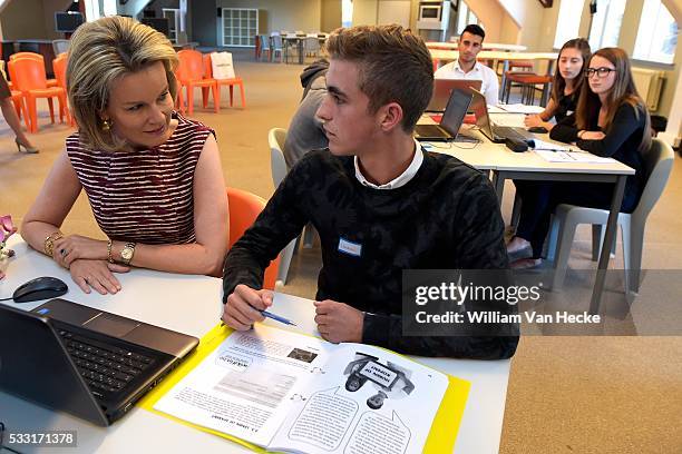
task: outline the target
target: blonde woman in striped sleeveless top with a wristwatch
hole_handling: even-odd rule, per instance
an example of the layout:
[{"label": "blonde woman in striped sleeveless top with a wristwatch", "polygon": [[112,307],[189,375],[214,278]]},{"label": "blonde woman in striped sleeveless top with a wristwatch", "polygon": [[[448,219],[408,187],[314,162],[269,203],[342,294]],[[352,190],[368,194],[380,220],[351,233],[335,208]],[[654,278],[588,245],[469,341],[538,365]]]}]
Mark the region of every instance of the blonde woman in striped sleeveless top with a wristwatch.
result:
[{"label": "blonde woman in striped sleeveless top with a wristwatch", "polygon": [[[66,140],[21,235],[85,293],[115,294],[129,266],[220,275],[227,198],[213,130],[173,110],[177,56],[150,27],[118,16],[71,38]],[[108,240],[59,230],[81,189]]]}]

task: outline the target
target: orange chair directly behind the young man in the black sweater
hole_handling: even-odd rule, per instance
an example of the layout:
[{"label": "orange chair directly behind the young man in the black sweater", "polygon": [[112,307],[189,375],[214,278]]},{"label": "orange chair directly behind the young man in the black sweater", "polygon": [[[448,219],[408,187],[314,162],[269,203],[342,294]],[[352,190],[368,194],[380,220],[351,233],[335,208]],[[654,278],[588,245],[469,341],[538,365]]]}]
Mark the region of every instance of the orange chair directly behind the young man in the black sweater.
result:
[{"label": "orange chair directly behind the young man in the black sweater", "polygon": [[[230,241],[227,247],[232,248],[265,208],[265,199],[242,189],[227,188],[227,203],[230,204]],[[265,269],[263,288],[274,290],[279,270],[280,256],[277,255]]]}]

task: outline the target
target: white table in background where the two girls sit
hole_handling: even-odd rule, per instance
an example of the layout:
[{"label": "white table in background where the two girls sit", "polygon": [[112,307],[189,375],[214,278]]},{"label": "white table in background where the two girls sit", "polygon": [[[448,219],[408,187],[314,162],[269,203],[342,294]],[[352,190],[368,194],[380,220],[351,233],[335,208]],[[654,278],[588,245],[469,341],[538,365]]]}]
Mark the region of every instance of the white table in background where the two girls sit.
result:
[{"label": "white table in background where the two girls sit", "polygon": [[[493,121],[495,121],[497,115],[510,116],[517,114],[490,115]],[[504,144],[493,144],[479,131],[468,134],[476,135],[481,142],[476,147],[471,147],[470,144],[464,144],[461,147],[432,144],[432,150],[455,156],[479,170],[491,171],[493,185],[500,204],[506,179],[614,182],[604,244],[610,245],[613,241],[625,191],[625,180],[629,175],[634,175],[633,168],[620,161],[613,164],[548,162],[535,152],[514,152]],[[538,135],[538,138],[553,141],[546,134]],[[562,145],[565,146],[565,144]],[[598,313],[610,254],[607,247],[602,248],[590,304],[592,314]]]}]

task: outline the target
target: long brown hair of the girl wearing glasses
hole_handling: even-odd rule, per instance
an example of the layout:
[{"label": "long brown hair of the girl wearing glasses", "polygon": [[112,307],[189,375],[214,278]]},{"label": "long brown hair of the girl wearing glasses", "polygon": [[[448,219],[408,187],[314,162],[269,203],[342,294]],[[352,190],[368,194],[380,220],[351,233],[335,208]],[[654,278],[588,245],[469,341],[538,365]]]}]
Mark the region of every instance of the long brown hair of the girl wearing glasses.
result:
[{"label": "long brown hair of the girl wearing glasses", "polygon": [[[634,86],[627,52],[621,48],[604,48],[594,52],[592,57],[590,57],[590,61],[592,61],[592,59],[596,56],[611,61],[615,68],[615,80],[613,81],[613,87],[606,97],[607,115],[605,124],[603,125],[604,131],[607,131],[611,128],[613,117],[615,116],[618,107],[624,103],[629,103],[635,109],[635,116],[645,116],[644,134],[642,135],[642,141],[640,142],[639,149],[640,151],[647,150],[649,147],[651,147],[651,118],[649,116],[646,103]],[[587,66],[590,66],[590,61],[587,62]],[[590,83],[584,83],[575,111],[577,128],[587,129],[590,125],[592,125],[595,119],[598,118],[601,108],[602,101],[600,100],[600,97],[590,89]]]}]

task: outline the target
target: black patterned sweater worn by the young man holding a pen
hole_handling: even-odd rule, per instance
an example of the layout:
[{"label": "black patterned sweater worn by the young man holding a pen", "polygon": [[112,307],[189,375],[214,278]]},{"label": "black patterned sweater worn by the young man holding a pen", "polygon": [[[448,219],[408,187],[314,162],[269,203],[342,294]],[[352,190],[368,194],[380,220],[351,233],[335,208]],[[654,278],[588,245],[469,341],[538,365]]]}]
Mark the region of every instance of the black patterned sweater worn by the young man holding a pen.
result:
[{"label": "black patterned sweater worn by the young man holding a pen", "polygon": [[[418,150],[418,152],[422,152]],[[308,154],[225,258],[223,302],[237,284],[261,288],[263,270],[311,221],[323,267],[318,300],[366,314],[362,342],[406,354],[497,359],[514,355],[518,337],[403,336],[403,269],[504,269],[504,223],[495,191],[476,169],[425,152],[405,186],[379,190],[355,178],[352,157]],[[362,245],[359,257],[341,239]]]}]

